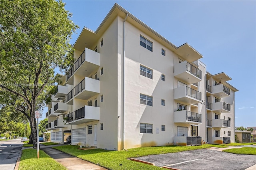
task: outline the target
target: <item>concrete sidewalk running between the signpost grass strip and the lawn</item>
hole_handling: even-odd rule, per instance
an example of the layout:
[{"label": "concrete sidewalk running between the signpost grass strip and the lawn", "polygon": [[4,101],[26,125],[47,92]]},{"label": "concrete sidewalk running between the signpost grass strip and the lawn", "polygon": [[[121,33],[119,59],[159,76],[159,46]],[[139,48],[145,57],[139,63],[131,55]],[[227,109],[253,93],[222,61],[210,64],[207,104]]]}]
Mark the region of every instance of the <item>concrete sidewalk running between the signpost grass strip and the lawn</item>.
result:
[{"label": "concrete sidewalk running between the signpost grass strip and the lawn", "polygon": [[[68,170],[107,170],[101,166],[98,166],[86,160],[79,159],[75,156],[66,154],[64,152],[61,152],[59,150],[52,148],[53,146],[62,146],[62,145],[66,145],[66,144],[56,144],[56,145],[49,145],[49,146],[44,146],[40,144],[40,149],[46,152],[46,154],[54,158],[54,160],[56,160],[63,166],[66,166]],[[27,148],[32,148],[32,147],[22,148],[22,150]],[[19,162],[17,161],[16,164],[19,164]]]}]

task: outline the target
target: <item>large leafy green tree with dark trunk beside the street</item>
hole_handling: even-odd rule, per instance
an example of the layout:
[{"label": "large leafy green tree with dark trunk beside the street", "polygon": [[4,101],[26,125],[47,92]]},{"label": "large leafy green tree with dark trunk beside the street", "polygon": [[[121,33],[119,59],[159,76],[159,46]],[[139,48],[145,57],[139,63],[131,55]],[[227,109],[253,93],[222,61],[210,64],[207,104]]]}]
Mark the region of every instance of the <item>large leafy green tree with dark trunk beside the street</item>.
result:
[{"label": "large leafy green tree with dark trunk beside the street", "polygon": [[54,84],[54,69],[66,71],[71,35],[78,28],[62,1],[0,0],[0,103],[30,122],[36,148],[34,113]]}]

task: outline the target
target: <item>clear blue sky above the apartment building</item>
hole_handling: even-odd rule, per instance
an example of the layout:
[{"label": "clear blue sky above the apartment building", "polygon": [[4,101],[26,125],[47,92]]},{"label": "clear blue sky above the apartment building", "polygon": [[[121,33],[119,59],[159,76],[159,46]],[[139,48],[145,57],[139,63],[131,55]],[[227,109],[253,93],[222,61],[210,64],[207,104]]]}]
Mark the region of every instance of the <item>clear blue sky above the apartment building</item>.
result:
[{"label": "clear blue sky above the apartment building", "polygon": [[[63,0],[71,20],[95,31],[115,3],[177,47],[189,43],[211,74],[224,72],[235,93],[235,127],[256,127],[256,1]],[[246,82],[244,81],[246,80]],[[46,107],[43,112],[45,113]]]}]

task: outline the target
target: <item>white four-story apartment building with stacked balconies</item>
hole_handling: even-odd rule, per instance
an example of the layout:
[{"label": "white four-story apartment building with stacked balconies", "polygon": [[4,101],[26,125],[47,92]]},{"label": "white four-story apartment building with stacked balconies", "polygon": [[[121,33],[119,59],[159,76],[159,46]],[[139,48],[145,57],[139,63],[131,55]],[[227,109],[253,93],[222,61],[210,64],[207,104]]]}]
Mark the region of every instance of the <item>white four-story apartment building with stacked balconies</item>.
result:
[{"label": "white four-story apartment building with stacked balconies", "polygon": [[[176,47],[115,4],[74,44],[74,65],[48,105],[52,142],[122,150],[234,142],[234,93],[225,73]],[[65,119],[66,120],[65,120]]]}]

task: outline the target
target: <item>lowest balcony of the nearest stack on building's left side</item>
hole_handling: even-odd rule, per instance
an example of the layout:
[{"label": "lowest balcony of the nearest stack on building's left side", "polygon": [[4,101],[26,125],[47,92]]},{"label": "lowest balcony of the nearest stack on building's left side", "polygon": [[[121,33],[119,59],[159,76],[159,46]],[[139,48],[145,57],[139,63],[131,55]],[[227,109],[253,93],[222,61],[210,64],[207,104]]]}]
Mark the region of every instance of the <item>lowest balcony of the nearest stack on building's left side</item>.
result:
[{"label": "lowest balcony of the nearest stack on building's left side", "polygon": [[79,125],[82,123],[88,123],[92,121],[100,120],[100,108],[94,106],[84,106],[75,111],[75,113],[70,113],[67,115],[68,125]]}]

